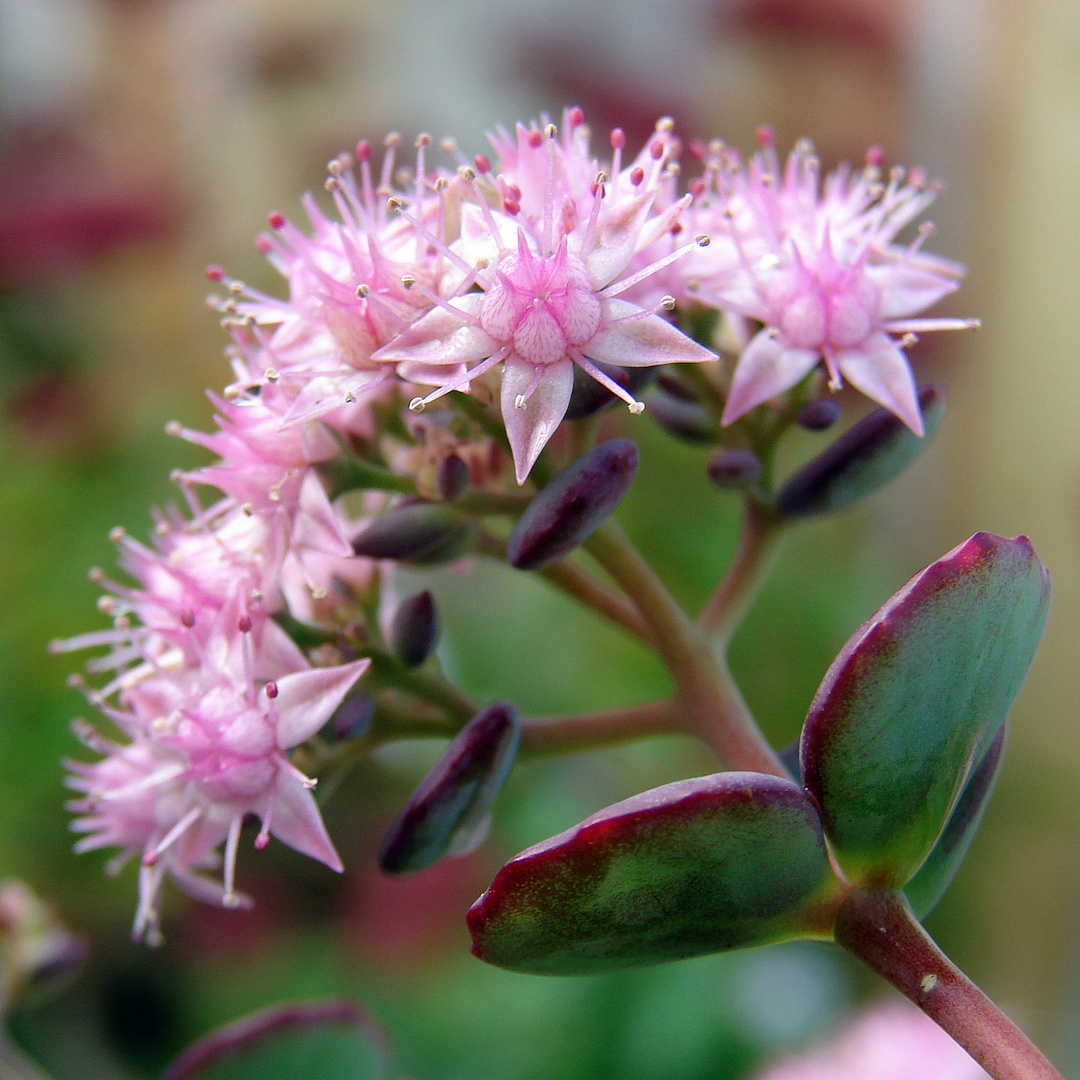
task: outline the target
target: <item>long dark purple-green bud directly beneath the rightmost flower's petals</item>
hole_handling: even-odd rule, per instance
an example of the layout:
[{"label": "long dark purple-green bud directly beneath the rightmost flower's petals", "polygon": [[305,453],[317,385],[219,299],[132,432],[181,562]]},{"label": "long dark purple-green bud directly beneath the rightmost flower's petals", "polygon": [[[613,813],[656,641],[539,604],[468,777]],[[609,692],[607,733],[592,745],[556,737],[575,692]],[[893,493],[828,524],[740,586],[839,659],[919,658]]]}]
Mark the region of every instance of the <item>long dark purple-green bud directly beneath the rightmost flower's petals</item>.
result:
[{"label": "long dark purple-green bud directly beneath the rightmost flower's petals", "polygon": [[887,408],[875,409],[784,484],[778,509],[788,517],[829,513],[883,487],[922,453],[941,422],[945,413],[941,387],[920,387],[919,408],[924,437]]}]

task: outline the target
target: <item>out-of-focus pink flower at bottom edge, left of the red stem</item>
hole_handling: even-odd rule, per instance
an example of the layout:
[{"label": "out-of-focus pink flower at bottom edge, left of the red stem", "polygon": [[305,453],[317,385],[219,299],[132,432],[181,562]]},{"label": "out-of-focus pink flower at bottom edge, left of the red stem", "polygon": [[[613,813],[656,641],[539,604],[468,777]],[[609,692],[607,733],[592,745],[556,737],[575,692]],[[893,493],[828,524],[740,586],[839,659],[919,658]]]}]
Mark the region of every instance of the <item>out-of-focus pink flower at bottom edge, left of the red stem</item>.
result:
[{"label": "out-of-focus pink flower at bottom edge, left of the red stem", "polygon": [[889,1001],[855,1018],[831,1043],[781,1062],[758,1080],[987,1080],[914,1005]]}]

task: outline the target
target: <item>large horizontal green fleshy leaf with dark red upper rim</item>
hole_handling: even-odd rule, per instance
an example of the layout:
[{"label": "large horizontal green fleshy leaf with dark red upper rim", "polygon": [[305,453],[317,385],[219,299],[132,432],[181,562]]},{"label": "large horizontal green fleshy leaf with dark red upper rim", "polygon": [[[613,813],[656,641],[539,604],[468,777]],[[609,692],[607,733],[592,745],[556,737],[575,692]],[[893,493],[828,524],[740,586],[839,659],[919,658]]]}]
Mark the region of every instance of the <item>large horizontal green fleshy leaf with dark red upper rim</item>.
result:
[{"label": "large horizontal green fleshy leaf with dark red upper rim", "polygon": [[523,851],[469,928],[497,967],[592,974],[812,936],[832,879],[801,788],[724,772],[635,795]]}]

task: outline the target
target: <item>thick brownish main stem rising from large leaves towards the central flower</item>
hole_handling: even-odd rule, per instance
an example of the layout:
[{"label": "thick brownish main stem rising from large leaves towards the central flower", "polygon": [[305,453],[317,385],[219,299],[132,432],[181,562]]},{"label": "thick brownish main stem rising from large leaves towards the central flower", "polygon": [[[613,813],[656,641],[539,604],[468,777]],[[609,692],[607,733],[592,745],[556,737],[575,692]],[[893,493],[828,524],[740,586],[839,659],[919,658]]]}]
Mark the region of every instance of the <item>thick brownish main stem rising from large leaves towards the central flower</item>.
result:
[{"label": "thick brownish main stem rising from large leaves towards the central flower", "polygon": [[652,631],[686,710],[687,729],[704,739],[728,768],[787,778],[727,667],[622,529],[609,519],[584,546],[623,588]]}]

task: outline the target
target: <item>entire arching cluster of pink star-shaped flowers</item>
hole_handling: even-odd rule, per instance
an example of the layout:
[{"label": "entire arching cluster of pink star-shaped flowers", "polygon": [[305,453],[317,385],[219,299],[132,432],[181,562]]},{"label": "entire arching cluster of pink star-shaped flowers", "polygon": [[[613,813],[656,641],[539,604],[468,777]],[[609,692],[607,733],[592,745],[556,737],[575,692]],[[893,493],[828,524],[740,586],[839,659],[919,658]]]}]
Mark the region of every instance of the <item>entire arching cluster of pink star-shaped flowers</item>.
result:
[{"label": "entire arching cluster of pink star-shaped flowers", "polygon": [[[225,293],[212,302],[232,339],[233,381],[212,399],[214,432],[171,431],[216,460],[176,474],[189,513],[159,515],[153,546],[117,534],[135,584],[99,576],[112,629],[56,644],[109,650],[89,665],[107,685],[87,694],[123,740],[80,725],[104,756],[72,762],[69,783],[86,834],[79,850],[118,847],[120,861],[141,861],[137,936],[157,936],[166,876],[243,902],[234,864],[247,815],[261,822],[256,847],[272,834],[340,869],[312,783],[287,752],[326,723],[367,661],[333,646],[306,656],[281,617],[333,637],[369,616],[370,604],[346,610],[349,597],[377,593],[384,575],[353,541],[386,491],[453,501],[451,487],[512,483],[476,408],[499,402],[518,485],[582,376],[639,413],[626,369],[672,363],[714,373],[725,423],[824,364],[832,386],[846,378],[921,433],[902,347],[968,325],[912,318],[956,287],[960,268],[922,254],[926,229],[895,242],[933,191],[916,174],[883,181],[877,157],[822,187],[806,146],[781,170],[768,138],[748,163],[694,145],[703,173],[680,194],[683,144],[667,119],[627,161],[618,129],[609,160],[593,156],[578,108],[561,125],[500,129],[494,161],[447,143],[456,165],[433,168],[420,136],[415,166],[401,168],[400,143],[388,137],[378,168],[367,143],[330,162],[336,217],[310,195],[310,231],[270,215],[258,244],[286,298],[207,269]],[[730,377],[711,340],[684,333],[702,308],[760,324]],[[475,407],[447,407],[450,391],[474,393]],[[326,476],[350,455],[393,483],[347,505]],[[464,475],[440,487],[451,458]],[[222,843],[217,881],[202,872]]]}]

